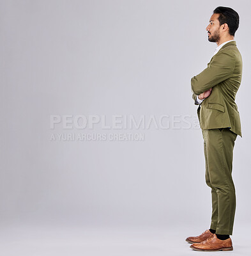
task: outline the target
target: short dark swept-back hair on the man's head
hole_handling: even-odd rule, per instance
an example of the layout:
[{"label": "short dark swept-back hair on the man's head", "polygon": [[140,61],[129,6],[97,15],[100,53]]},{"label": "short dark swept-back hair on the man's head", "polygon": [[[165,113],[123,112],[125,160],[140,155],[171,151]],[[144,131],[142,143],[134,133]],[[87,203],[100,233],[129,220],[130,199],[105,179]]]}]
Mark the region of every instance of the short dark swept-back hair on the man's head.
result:
[{"label": "short dark swept-back hair on the man's head", "polygon": [[220,16],[218,17],[220,26],[222,26],[222,24],[227,23],[227,25],[229,26],[229,35],[234,36],[236,30],[239,28],[240,17],[238,13],[232,10],[232,8],[223,6],[218,6],[213,11],[213,13],[220,14]]}]

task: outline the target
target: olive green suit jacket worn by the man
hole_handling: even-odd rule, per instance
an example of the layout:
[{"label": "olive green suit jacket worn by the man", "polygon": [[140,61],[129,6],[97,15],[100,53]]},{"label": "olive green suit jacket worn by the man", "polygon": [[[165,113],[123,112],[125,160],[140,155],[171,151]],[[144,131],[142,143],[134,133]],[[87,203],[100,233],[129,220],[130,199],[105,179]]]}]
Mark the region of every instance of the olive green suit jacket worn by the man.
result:
[{"label": "olive green suit jacket worn by the man", "polygon": [[211,58],[207,68],[192,77],[194,100],[196,95],[213,88],[197,109],[201,129],[230,127],[232,132],[241,136],[240,115],[235,102],[241,75],[241,54],[236,42],[232,41],[222,46]]}]

